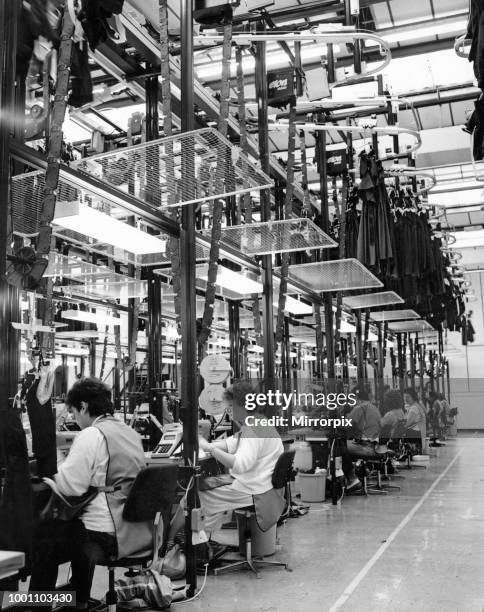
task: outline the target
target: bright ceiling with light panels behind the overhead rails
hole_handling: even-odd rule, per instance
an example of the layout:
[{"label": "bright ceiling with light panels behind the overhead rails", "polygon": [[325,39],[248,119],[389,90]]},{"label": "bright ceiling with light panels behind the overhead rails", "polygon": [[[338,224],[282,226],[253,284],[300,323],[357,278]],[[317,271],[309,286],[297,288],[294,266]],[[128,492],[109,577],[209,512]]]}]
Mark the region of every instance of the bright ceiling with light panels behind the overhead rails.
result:
[{"label": "bright ceiling with light panels behind the overhead rails", "polygon": [[[465,178],[468,182],[474,176],[470,161],[468,135],[461,126],[473,109],[478,90],[475,87],[472,67],[465,59],[457,57],[453,50],[455,37],[462,34],[466,27],[468,0],[360,0],[360,27],[376,32],[385,39],[392,50],[392,61],[383,75],[384,92],[387,97],[398,96],[398,124],[402,128],[419,130],[423,145],[416,156],[420,168],[430,168],[439,180],[430,195],[430,201],[446,208],[445,227],[455,231],[480,230],[484,227],[484,184],[473,189],[464,189],[456,180]],[[255,19],[249,15],[250,0],[241,0],[235,12],[235,29],[242,18]],[[173,112],[175,125],[179,114],[180,67],[177,57],[179,46],[180,22],[178,18],[179,1],[169,2],[169,29],[172,35],[172,81]],[[125,0],[122,22],[126,28],[126,40],[119,44],[110,42],[102,45],[92,54],[91,67],[95,82],[95,101],[74,112],[66,122],[67,138],[73,142],[90,141],[93,130],[99,130],[107,138],[124,138],[128,118],[133,112],[144,112],[145,91],[143,74],[159,65],[159,45],[155,40],[159,19],[158,0]],[[308,25],[324,27],[327,23],[343,23],[344,4],[338,0],[275,0],[267,7],[267,23],[280,31],[307,28]],[[289,50],[289,53],[288,53]],[[352,57],[345,45],[335,45],[336,74],[340,79],[350,69]],[[292,43],[288,49],[278,43],[268,43],[267,63],[280,67],[290,64],[294,51]],[[318,85],[321,58],[327,49],[320,43],[303,44],[303,68],[306,71],[307,89],[311,91]],[[211,45],[210,49],[197,48],[195,52],[195,102],[197,105],[197,127],[206,122],[216,121],[221,74],[220,46]],[[235,53],[233,55],[233,59]],[[367,45],[363,59],[367,69],[378,60],[377,48]],[[251,102],[255,98],[254,62],[249,51],[244,52],[244,77],[246,81],[245,98],[248,114],[255,114]],[[232,75],[235,75],[235,62]],[[343,128],[347,122],[356,125],[362,118],[373,115],[377,125],[387,126],[387,107],[373,104],[361,108],[348,105],[348,100],[376,98],[377,82],[371,80],[361,84],[336,86],[332,89],[333,101],[341,106],[332,109],[335,131],[328,135],[329,146],[338,146],[344,139]],[[232,81],[231,96],[236,98],[235,82]],[[300,100],[299,102],[303,102]],[[326,100],[327,101],[327,100]],[[334,106],[334,104],[332,105]],[[235,118],[237,107],[232,107],[233,117],[229,133],[237,136],[238,122]],[[303,109],[301,120],[304,119]],[[271,115],[284,119],[284,112],[273,109]],[[412,142],[411,136],[399,138],[400,151],[404,152]],[[356,150],[365,144],[364,140],[354,140]],[[306,137],[308,159],[313,155],[314,139]],[[391,152],[394,141],[391,137],[380,138],[380,154]],[[257,136],[251,134],[250,147],[257,152]],[[271,132],[270,147],[273,153],[272,171],[284,178],[283,166],[277,159],[284,160],[287,151],[287,134]],[[467,163],[467,166],[465,164]],[[465,172],[460,170],[465,166]],[[440,168],[444,167],[445,172]],[[455,176],[452,177],[451,173]],[[482,171],[484,175],[484,169]],[[311,180],[311,177],[310,177]],[[314,182],[317,177],[312,176]],[[456,190],[457,189],[457,190]],[[296,195],[298,191],[296,189]],[[476,237],[478,234],[476,234]],[[484,248],[474,246],[463,248],[472,250],[474,259],[482,259]],[[464,242],[462,242],[464,244]],[[482,240],[484,247],[484,238]],[[481,254],[482,251],[482,254]],[[473,264],[474,265],[474,264]],[[476,265],[481,265],[476,264]]]}]

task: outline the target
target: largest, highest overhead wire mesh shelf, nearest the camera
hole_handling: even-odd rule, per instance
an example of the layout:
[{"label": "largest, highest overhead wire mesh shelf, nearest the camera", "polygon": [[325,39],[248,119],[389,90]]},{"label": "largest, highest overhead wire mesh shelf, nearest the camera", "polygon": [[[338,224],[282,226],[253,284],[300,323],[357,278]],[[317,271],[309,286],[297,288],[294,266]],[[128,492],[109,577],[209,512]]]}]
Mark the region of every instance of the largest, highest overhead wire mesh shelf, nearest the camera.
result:
[{"label": "largest, highest overhead wire mesh shelf, nearest the camera", "polygon": [[[256,164],[212,128],[101,153],[73,167],[157,210],[272,186]],[[182,185],[188,197],[182,197]]]}]

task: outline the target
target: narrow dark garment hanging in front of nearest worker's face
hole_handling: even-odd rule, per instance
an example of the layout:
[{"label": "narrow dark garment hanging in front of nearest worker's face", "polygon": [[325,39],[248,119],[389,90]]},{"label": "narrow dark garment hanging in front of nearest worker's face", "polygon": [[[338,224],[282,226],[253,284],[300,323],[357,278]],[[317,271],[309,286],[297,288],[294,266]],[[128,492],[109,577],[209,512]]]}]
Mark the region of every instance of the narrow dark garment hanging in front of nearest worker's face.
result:
[{"label": "narrow dark garment hanging in front of nearest worker's face", "polygon": [[37,475],[53,476],[57,472],[55,418],[51,400],[40,404],[37,379],[27,391],[26,404],[32,430],[32,450],[37,461]]}]

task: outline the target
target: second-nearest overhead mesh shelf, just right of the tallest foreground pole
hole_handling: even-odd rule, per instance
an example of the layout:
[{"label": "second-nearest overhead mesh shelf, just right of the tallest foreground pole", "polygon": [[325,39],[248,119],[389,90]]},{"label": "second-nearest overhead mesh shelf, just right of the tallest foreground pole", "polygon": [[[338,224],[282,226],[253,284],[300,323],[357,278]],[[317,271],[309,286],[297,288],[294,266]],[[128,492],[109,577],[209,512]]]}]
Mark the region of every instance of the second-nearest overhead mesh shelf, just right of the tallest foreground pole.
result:
[{"label": "second-nearest overhead mesh shelf, just right of the tallest foreground pole", "polygon": [[224,227],[221,241],[249,257],[337,246],[311,219],[286,219]]}]

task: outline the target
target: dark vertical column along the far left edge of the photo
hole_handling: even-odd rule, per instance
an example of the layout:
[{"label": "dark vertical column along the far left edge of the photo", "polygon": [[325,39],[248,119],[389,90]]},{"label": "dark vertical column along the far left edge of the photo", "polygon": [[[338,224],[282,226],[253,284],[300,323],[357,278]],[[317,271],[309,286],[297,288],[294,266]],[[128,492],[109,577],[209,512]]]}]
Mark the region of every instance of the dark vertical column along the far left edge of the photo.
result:
[{"label": "dark vertical column along the far left edge of the photo", "polygon": [[[5,272],[10,227],[8,141],[14,131],[11,118],[15,116],[15,52],[20,7],[19,1],[0,0],[0,411],[7,408],[9,398],[15,395],[19,375],[18,332],[11,326],[20,316],[19,291],[7,283]],[[2,417],[0,420],[5,422]]]}]

